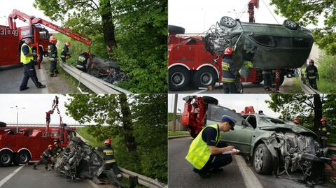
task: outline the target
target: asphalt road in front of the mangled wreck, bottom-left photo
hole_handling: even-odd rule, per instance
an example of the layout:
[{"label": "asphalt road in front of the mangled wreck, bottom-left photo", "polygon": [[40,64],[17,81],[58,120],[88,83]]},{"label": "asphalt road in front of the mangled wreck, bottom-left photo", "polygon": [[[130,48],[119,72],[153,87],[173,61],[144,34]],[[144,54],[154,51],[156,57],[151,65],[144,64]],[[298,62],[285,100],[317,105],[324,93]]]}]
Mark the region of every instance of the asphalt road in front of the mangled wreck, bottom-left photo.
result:
[{"label": "asphalt road in front of the mangled wreck, bottom-left photo", "polygon": [[44,165],[38,166],[37,171],[34,171],[31,165],[1,167],[0,169],[1,188],[100,188],[98,185],[94,185],[93,182],[89,182],[88,180],[68,182],[66,178],[57,174],[55,171],[45,171]]}]

